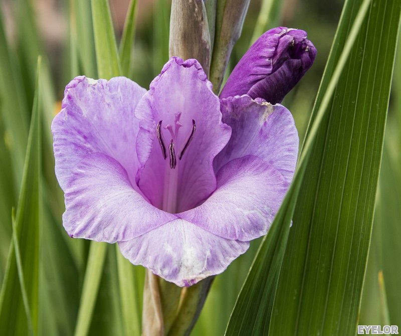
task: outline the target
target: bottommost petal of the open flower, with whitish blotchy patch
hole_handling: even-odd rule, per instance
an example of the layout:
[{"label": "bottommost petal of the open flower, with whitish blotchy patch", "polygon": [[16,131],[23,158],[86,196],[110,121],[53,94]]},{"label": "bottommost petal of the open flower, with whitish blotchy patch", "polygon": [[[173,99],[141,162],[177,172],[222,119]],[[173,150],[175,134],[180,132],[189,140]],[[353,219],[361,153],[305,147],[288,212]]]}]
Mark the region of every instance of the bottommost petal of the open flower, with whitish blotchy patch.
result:
[{"label": "bottommost petal of the open flower, with whitish blotchy patch", "polygon": [[223,272],[249,242],[224,239],[177,219],[118,245],[134,265],[182,287]]}]

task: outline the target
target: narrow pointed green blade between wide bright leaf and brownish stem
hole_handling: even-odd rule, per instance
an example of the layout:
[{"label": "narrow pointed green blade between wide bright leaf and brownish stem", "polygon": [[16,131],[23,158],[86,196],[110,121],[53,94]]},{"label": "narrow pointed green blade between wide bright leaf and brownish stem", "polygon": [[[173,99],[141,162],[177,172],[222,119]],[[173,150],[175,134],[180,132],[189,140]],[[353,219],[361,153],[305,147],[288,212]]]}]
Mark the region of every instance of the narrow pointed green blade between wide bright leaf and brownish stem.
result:
[{"label": "narrow pointed green blade between wide bright leaf and brownish stem", "polygon": [[131,0],[127,17],[125,18],[124,31],[120,42],[120,63],[122,74],[131,77],[132,73],[132,46],[135,37],[135,17],[136,17],[136,0]]}]

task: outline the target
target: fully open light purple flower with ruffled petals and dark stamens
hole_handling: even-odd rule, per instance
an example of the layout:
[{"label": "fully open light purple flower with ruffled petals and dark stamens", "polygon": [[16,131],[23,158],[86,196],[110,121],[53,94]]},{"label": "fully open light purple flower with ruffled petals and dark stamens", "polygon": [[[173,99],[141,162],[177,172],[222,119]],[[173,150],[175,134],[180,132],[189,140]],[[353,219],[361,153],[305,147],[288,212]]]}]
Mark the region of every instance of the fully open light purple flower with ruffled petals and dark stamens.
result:
[{"label": "fully open light purple flower with ruffled petals and dark stamens", "polygon": [[220,101],[196,60],[171,58],[149,91],[77,77],[52,124],[71,237],[179,286],[221,273],[266,234],[291,182],[291,113],[248,95]]}]

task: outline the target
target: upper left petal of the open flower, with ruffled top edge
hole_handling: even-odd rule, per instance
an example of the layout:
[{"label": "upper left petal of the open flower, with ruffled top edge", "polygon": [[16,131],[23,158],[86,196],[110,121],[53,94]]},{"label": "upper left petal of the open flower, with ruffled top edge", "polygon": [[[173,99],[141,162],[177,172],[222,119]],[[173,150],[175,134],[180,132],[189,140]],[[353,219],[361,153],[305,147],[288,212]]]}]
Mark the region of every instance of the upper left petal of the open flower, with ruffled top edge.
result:
[{"label": "upper left petal of the open flower, with ruffled top edge", "polygon": [[56,176],[64,191],[74,167],[96,152],[116,159],[135,181],[139,126],[134,110],[145,92],[124,77],[106,81],[80,76],[67,85],[63,108],[52,123]]}]

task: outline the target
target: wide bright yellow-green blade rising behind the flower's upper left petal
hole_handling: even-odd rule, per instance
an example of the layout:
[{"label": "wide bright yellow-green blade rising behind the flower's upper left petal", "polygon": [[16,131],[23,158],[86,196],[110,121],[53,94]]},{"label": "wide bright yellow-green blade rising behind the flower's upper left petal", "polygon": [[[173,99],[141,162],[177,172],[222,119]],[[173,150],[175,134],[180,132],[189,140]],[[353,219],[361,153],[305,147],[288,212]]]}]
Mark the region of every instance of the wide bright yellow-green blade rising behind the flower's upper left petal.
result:
[{"label": "wide bright yellow-green blade rising behind the flower's upper left petal", "polygon": [[116,39],[107,0],[91,0],[97,70],[100,78],[110,79],[121,74]]}]

